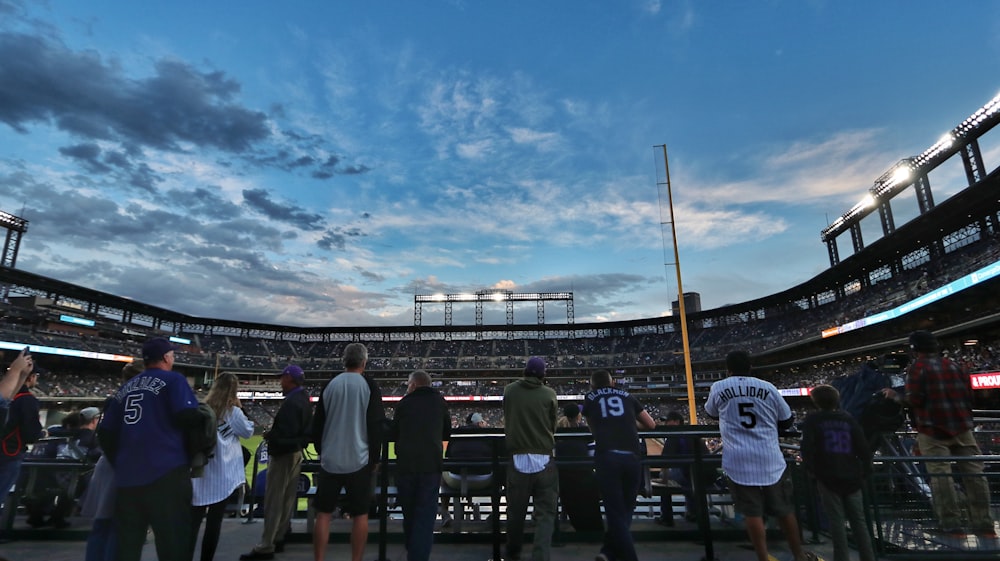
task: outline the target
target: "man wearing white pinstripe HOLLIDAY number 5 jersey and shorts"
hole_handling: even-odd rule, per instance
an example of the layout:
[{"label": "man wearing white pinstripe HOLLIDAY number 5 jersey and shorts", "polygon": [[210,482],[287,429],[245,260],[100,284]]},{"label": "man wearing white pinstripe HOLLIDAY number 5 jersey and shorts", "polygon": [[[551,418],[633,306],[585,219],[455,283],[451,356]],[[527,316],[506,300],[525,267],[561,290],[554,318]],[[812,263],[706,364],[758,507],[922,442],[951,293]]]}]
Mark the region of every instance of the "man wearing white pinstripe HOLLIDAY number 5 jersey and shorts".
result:
[{"label": "man wearing white pinstripe HOLLIDAY number 5 jersey and shorts", "polygon": [[768,560],[765,514],[777,517],[795,561],[815,559],[802,549],[791,474],[778,441],[778,431],[792,426],[792,410],[774,384],[750,375],[746,351],[726,355],[726,370],[728,377],[712,384],[705,412],[719,420],[722,468],[757,559]]}]

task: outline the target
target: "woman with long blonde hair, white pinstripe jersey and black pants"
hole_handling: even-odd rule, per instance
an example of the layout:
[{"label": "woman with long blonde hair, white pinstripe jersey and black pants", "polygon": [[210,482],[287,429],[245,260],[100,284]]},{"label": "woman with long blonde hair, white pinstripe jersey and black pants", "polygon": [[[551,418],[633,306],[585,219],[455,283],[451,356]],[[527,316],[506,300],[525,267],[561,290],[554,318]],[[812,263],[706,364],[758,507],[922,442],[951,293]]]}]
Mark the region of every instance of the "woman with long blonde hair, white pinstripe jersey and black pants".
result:
[{"label": "woman with long blonde hair, white pinstripe jersey and black pants", "polygon": [[[191,480],[193,499],[191,507],[192,536],[198,535],[201,520],[205,518],[205,534],[201,539],[201,561],[212,561],[219,545],[222,517],[229,498],[246,483],[243,463],[243,445],[240,438],[253,436],[253,423],[243,413],[236,390],[236,375],[226,372],[215,379],[205,403],[215,411],[219,422],[215,455],[205,465],[205,473]],[[208,513],[206,517],[206,511]],[[194,545],[191,541],[191,559]]]}]

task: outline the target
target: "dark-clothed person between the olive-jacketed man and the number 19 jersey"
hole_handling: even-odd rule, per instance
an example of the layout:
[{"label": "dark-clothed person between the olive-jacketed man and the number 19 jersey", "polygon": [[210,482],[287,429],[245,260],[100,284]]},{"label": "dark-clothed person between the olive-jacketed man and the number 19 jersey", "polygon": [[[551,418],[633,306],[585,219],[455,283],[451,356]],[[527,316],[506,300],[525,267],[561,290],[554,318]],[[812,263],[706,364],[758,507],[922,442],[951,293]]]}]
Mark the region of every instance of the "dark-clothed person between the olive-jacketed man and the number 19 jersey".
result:
[{"label": "dark-clothed person between the olive-jacketed man and the number 19 jersey", "polygon": [[[556,422],[556,433],[590,432],[583,423],[580,406],[567,403],[563,416]],[[563,513],[577,532],[603,532],[601,497],[594,477],[594,441],[591,438],[562,437],[556,439],[556,457],[560,460],[586,461],[585,465],[559,466],[559,500]]]}]

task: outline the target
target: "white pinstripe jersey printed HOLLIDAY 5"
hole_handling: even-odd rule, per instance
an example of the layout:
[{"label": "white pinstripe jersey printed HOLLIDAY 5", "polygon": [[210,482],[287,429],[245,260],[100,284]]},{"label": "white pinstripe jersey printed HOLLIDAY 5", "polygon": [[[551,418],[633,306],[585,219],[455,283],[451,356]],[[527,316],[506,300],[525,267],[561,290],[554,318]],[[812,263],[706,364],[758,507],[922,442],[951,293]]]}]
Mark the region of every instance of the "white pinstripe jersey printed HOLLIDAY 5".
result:
[{"label": "white pinstripe jersey printed HOLLIDAY 5", "polygon": [[792,410],[774,384],[752,376],[730,376],[712,384],[705,412],[719,419],[722,469],[740,485],[773,485],[785,471],[778,422]]}]

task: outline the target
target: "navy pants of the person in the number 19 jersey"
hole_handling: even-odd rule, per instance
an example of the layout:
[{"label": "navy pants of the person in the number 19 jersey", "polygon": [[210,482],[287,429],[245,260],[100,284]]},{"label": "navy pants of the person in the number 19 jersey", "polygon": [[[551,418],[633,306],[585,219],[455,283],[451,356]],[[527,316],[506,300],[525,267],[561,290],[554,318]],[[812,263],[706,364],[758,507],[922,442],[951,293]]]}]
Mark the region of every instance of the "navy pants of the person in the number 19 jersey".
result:
[{"label": "navy pants of the person in the number 19 jersey", "polygon": [[597,486],[601,489],[604,516],[608,521],[601,553],[608,559],[636,561],[638,557],[630,529],[635,497],[639,491],[639,457],[635,454],[599,452],[594,460]]}]

